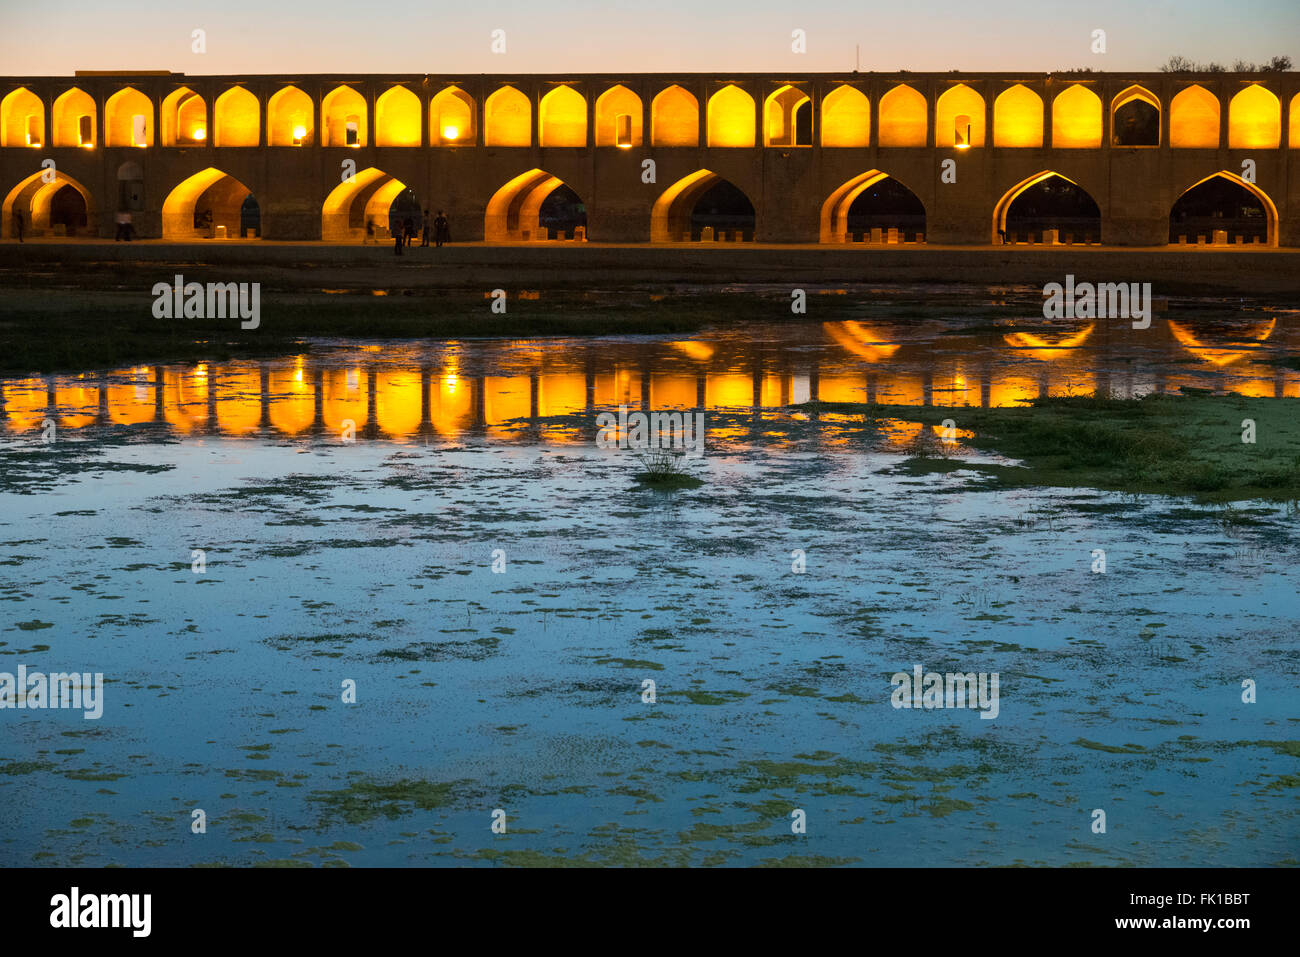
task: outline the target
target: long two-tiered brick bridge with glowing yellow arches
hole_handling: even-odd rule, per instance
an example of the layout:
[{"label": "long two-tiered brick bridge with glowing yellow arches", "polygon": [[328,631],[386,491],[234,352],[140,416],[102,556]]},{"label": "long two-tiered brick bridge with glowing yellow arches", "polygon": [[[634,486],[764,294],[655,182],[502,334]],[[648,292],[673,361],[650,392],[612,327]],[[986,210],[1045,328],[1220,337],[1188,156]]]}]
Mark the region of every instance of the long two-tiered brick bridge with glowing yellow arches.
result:
[{"label": "long two-tiered brick bridge with glowing yellow arches", "polygon": [[3,77],[0,195],[69,241],[1300,246],[1300,74]]}]

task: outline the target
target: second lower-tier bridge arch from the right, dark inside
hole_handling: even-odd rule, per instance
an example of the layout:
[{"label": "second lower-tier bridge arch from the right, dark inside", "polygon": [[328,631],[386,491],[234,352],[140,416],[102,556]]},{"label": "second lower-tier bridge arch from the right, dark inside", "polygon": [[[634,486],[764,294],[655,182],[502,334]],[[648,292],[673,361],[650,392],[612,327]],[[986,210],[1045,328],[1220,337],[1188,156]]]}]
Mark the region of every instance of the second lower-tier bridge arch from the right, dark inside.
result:
[{"label": "second lower-tier bridge arch from the right, dark inside", "polygon": [[1079,183],[1044,170],[1013,186],[993,208],[992,241],[1080,244],[1101,242],[1101,208]]}]

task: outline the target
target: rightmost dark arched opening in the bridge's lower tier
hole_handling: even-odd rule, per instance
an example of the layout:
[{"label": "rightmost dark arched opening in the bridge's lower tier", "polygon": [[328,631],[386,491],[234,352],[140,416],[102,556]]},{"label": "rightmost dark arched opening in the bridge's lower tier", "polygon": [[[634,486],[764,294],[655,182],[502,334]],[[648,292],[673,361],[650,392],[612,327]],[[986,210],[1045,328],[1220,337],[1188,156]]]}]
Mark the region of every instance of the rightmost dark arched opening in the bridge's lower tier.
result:
[{"label": "rightmost dark arched opening in the bridge's lower tier", "polygon": [[1235,173],[1212,173],[1192,183],[1169,212],[1169,242],[1209,246],[1278,244],[1278,208],[1254,183]]}]

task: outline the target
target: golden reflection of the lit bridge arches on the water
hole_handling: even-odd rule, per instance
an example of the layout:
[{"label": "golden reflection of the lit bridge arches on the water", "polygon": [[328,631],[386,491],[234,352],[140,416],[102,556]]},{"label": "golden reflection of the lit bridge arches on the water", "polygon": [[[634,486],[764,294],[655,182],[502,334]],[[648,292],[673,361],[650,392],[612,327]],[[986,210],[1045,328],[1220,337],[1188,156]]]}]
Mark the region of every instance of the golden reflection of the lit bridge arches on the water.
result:
[{"label": "golden reflection of the lit bridge arches on the water", "polygon": [[[142,365],[0,382],[0,429],[165,428],[176,436],[571,442],[547,419],[597,408],[749,411],[820,399],[1014,406],[1180,386],[1300,397],[1296,324],[1165,320],[753,325],[686,339],[459,341],[321,346],[263,361]],[[822,413],[829,415],[829,413]],[[524,428],[526,426],[526,428]]]}]

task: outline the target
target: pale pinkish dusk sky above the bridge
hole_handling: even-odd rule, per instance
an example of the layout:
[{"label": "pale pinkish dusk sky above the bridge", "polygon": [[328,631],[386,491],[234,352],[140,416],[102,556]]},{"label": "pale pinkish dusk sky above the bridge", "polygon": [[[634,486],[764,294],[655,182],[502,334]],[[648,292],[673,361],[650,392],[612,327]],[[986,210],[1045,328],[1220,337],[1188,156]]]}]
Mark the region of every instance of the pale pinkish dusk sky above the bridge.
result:
[{"label": "pale pinkish dusk sky above the bridge", "polygon": [[1300,0],[0,0],[0,73],[17,75],[822,72],[852,70],[854,44],[863,70],[1154,70],[1174,53],[1300,61],[1297,38]]}]

